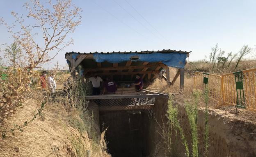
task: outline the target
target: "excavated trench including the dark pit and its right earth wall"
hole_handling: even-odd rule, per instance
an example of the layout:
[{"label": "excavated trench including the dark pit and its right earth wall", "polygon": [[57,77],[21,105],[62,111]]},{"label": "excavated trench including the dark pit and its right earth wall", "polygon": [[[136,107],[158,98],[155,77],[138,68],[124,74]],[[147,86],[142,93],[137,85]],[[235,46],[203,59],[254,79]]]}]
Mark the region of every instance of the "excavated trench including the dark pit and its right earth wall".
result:
[{"label": "excavated trench including the dark pit and its right earth wall", "polygon": [[[105,140],[108,152],[112,157],[166,156],[167,147],[164,139],[159,135],[161,132],[159,124],[167,123],[166,110],[167,100],[158,98],[152,109],[153,115],[147,110],[100,111],[101,131],[107,128]],[[179,111],[185,137],[191,146],[191,130],[183,106],[179,106]],[[199,139],[203,139],[204,108],[199,108],[198,116]],[[256,157],[255,122],[241,119],[223,110],[209,109],[208,124],[210,134],[208,157]],[[157,149],[157,144],[160,149]],[[185,157],[180,138],[176,148],[178,155]],[[203,140],[199,140],[200,156],[203,152]]]}]

